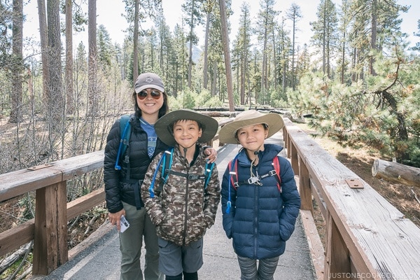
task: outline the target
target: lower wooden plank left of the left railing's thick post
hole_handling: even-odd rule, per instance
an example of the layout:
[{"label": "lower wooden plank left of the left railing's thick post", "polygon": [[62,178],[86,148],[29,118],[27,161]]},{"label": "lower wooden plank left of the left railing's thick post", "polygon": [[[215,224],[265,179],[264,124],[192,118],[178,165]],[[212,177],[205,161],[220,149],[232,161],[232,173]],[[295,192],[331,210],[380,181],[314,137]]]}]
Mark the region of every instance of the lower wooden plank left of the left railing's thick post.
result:
[{"label": "lower wooden plank left of the left railing's thick post", "polygon": [[23,244],[34,239],[34,219],[26,221],[15,228],[0,232],[0,256],[6,255]]}]

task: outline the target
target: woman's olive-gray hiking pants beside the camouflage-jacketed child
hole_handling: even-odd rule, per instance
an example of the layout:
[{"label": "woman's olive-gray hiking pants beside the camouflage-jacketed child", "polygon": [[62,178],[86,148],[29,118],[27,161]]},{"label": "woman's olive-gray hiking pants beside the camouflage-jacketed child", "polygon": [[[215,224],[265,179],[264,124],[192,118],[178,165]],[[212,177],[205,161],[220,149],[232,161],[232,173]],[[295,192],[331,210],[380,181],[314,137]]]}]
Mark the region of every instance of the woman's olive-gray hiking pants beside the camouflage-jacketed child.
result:
[{"label": "woman's olive-gray hiking pants beside the camouflage-jacketed child", "polygon": [[164,275],[159,271],[159,246],[155,225],[143,207],[136,207],[123,202],[125,218],[130,223],[130,228],[120,233],[121,251],[121,280],[143,280],[140,267],[141,246],[146,247],[144,261],[144,279],[163,280]]}]

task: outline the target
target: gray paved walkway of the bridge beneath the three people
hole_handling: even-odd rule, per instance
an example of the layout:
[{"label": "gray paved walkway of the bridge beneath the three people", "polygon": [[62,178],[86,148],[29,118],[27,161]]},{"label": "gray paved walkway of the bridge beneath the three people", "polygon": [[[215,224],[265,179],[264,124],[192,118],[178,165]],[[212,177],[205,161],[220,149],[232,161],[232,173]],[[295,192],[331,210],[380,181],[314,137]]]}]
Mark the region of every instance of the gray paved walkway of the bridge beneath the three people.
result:
[{"label": "gray paved walkway of the bridge beneath the three people", "polygon": [[[282,139],[282,134],[277,133],[269,139],[269,142],[283,145]],[[235,156],[237,151],[239,151],[239,146],[236,145],[227,145],[218,151],[217,165],[220,178],[223,176],[229,160]],[[69,262],[66,262],[48,276],[34,277],[33,279],[119,279],[118,232],[115,228],[111,228],[109,224],[104,225],[102,230],[106,230],[107,233],[71,258]],[[141,257],[142,267],[143,255]],[[202,280],[237,280],[240,276],[232,241],[226,237],[223,230],[220,204],[216,215],[216,223],[207,230],[204,236],[204,265],[198,274]],[[316,279],[314,274],[308,242],[299,217],[295,232],[286,243],[286,252],[280,257],[274,279],[314,280]]]}]

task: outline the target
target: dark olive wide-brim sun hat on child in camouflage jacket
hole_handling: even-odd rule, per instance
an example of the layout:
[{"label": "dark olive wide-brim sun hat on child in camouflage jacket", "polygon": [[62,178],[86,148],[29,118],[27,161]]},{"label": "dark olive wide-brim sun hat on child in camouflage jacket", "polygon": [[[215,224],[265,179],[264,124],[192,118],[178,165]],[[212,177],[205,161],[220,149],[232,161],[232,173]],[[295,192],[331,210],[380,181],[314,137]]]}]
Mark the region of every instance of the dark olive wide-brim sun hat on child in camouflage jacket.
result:
[{"label": "dark olive wide-brim sun hat on child in camouflage jacket", "polygon": [[198,139],[201,143],[207,143],[214,138],[218,130],[218,122],[214,118],[205,116],[189,109],[181,109],[167,113],[155,123],[155,132],[159,139],[168,146],[176,146],[172,132],[173,125],[178,120],[195,120],[202,127],[202,136]]}]

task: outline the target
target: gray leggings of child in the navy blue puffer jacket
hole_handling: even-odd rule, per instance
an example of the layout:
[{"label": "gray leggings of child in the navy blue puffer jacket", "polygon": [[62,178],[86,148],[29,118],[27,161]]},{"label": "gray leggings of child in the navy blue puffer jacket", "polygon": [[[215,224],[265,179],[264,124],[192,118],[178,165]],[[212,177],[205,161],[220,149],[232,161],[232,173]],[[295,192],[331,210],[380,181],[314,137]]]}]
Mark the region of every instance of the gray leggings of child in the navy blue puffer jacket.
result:
[{"label": "gray leggings of child in the navy blue puffer jacket", "polygon": [[241,269],[241,280],[273,280],[276,272],[279,257],[263,258],[253,260],[238,255],[239,268]]}]

